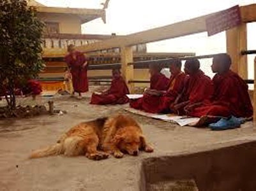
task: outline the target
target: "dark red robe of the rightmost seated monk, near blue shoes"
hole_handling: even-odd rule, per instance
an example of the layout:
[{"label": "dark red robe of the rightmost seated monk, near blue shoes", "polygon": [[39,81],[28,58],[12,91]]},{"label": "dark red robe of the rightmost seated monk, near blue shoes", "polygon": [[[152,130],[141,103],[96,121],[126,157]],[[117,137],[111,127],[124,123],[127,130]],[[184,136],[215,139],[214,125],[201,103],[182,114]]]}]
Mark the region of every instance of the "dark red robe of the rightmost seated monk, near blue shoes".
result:
[{"label": "dark red robe of the rightmost seated monk, near blue shoes", "polygon": [[211,103],[204,103],[193,110],[190,115],[202,117],[205,115],[229,117],[252,117],[253,108],[248,94],[248,85],[236,73],[227,71],[215,74],[213,78],[215,92]]}]

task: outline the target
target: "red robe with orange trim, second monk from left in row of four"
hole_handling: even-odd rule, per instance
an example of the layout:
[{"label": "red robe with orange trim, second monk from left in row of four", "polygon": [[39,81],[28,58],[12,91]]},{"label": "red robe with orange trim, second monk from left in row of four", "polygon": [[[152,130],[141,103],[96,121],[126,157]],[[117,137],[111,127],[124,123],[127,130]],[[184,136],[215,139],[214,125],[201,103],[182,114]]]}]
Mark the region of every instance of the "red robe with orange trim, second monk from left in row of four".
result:
[{"label": "red robe with orange trim, second monk from left in row of four", "polygon": [[168,113],[170,112],[170,104],[175,101],[178,94],[181,93],[184,86],[184,73],[179,73],[170,76],[169,88],[167,92],[163,95],[149,95],[144,94],[144,96],[135,101],[130,101],[130,106],[137,110],[144,110],[149,113]]}]

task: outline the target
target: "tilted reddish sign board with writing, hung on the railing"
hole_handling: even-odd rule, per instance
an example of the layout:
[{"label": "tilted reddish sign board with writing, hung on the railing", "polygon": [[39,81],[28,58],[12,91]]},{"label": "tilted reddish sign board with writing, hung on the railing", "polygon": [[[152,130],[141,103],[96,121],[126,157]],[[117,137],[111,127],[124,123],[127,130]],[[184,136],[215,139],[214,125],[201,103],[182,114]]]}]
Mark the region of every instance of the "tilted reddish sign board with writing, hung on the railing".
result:
[{"label": "tilted reddish sign board with writing, hung on the railing", "polygon": [[242,19],[238,5],[206,18],[208,36],[212,36],[218,32],[227,31],[240,24],[242,24]]}]

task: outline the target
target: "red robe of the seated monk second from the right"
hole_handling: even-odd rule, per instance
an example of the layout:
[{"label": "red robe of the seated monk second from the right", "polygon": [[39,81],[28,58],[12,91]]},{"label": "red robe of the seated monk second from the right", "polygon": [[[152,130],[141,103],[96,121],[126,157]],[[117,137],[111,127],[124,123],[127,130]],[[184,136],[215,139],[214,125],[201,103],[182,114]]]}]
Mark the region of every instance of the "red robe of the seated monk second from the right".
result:
[{"label": "red robe of the seated monk second from the right", "polygon": [[[201,70],[196,74],[189,75],[185,79],[184,90],[179,103],[189,101],[186,106],[208,102],[213,95],[213,82]],[[184,106],[185,107],[185,106]],[[184,115],[184,107],[179,109],[179,115]]]}]

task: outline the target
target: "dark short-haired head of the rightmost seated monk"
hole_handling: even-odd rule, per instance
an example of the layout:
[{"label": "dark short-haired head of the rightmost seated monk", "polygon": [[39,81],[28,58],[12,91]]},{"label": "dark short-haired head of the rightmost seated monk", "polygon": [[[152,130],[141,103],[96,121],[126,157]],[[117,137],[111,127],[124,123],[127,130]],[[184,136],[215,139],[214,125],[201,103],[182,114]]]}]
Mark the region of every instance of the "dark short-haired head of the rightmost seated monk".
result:
[{"label": "dark short-haired head of the rightmost seated monk", "polygon": [[213,57],[213,65],[211,69],[213,73],[224,73],[225,71],[229,71],[232,60],[230,55],[227,53],[220,53]]}]

